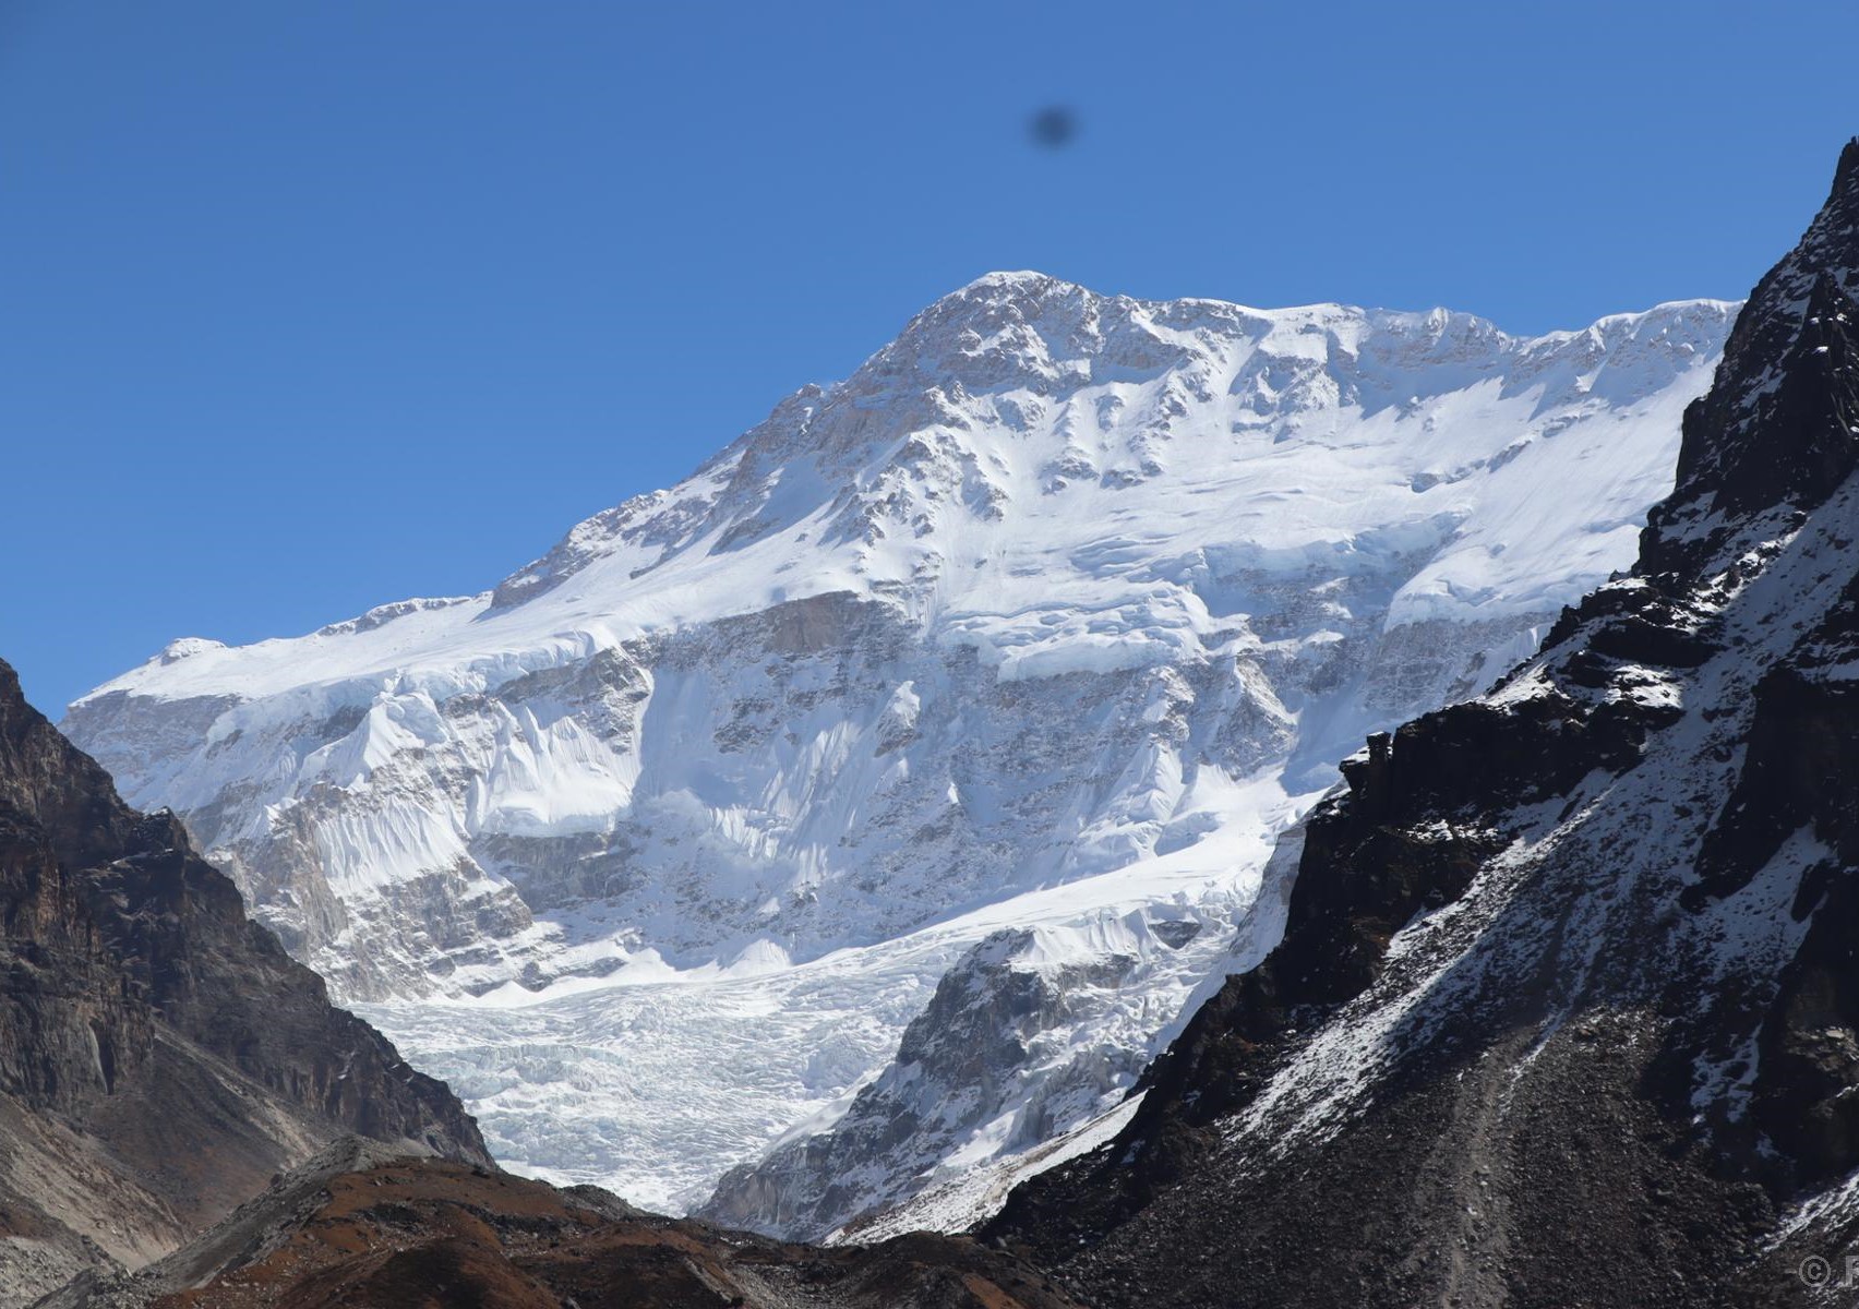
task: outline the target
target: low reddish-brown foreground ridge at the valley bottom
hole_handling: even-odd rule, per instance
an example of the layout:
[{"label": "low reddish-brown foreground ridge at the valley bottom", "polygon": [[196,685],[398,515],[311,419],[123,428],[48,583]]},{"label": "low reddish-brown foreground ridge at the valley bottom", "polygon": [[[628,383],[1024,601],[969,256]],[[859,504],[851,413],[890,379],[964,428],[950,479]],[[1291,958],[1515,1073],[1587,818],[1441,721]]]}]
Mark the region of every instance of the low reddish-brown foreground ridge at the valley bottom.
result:
[{"label": "low reddish-brown foreground ridge at the valley bottom", "polygon": [[465,1164],[335,1147],[136,1277],[45,1309],[1080,1309],[959,1236],[814,1250]]}]

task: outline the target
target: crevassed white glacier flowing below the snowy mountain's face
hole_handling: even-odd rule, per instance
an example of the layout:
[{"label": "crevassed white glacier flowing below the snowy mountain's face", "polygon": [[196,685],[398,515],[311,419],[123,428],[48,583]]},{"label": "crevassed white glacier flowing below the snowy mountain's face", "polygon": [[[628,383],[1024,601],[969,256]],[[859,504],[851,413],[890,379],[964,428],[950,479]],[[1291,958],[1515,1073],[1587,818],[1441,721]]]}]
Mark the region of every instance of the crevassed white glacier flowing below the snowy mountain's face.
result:
[{"label": "crevassed white glacier flowing below the snowy mountain's face", "polygon": [[[1028,933],[1045,952],[1021,950],[1015,963],[1065,984],[1110,959],[1123,984],[1073,993],[1065,1015],[1045,1026],[1035,1065],[1004,1069],[1011,1086],[996,1099],[1013,1106],[1069,1082],[1071,1099],[1052,1119],[1065,1129],[1121,1095],[1154,1034],[1220,969],[1233,920],[1259,894],[1270,833],[1294,813],[1273,790],[1246,796],[1249,826],[1193,848],[784,969],[705,965],[638,982],[628,969],[606,984],[561,982],[539,998],[508,987],[474,1002],[357,1012],[450,1082],[504,1166],[563,1183],[600,1177],[639,1205],[682,1212],[710,1196],[725,1166],[835,1123],[974,943]],[[1197,932],[1169,948],[1154,924]],[[1145,948],[1125,967],[1136,937]],[[1091,1065],[1108,1077],[1080,1095],[1078,1073]],[[943,1132],[911,1157],[930,1166],[939,1147],[957,1144],[974,1145]],[[1006,1153],[1030,1144],[995,1142]],[[913,1190],[909,1177],[872,1177],[874,1201]],[[734,1222],[801,1229],[775,1222],[773,1210]]]}]

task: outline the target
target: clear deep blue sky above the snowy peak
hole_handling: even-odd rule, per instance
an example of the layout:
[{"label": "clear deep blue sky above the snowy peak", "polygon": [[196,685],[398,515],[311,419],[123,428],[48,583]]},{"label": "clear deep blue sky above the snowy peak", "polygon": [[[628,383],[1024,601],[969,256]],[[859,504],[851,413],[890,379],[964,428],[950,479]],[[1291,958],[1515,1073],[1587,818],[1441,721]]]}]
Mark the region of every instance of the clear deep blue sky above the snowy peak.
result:
[{"label": "clear deep blue sky above the snowy peak", "polygon": [[0,656],[56,716],[478,591],[991,268],[1742,296],[1853,48],[1852,4],[0,0]]}]

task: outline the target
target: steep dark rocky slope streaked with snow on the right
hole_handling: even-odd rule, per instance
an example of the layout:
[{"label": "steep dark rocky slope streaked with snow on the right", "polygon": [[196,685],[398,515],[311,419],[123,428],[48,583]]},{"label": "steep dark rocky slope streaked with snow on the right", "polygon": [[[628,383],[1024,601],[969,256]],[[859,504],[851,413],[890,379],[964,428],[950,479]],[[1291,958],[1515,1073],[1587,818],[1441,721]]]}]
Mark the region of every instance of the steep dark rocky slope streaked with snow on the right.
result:
[{"label": "steep dark rocky slope streaked with snow on the right", "polygon": [[1634,575],[1350,760],[1283,945],[985,1236],[1101,1305],[1839,1303],[1796,1268],[1859,1236],[1855,292],[1859,143]]}]

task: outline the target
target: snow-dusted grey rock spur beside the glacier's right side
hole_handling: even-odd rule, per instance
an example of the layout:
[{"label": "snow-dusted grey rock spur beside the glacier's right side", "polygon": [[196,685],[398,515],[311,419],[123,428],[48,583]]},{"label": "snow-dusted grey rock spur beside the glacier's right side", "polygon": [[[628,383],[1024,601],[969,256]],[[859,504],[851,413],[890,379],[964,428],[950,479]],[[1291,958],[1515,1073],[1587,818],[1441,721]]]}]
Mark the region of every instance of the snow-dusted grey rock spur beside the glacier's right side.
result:
[{"label": "snow-dusted grey rock spur beside the glacier's right side", "polygon": [[732,1168],[701,1216],[803,1240],[987,1218],[1013,1181],[1069,1157],[1063,1138],[1117,1116],[1106,1106],[1192,1010],[1184,993],[1257,963],[1253,943],[1277,939],[1296,859],[1268,866],[1266,889],[1242,902],[1238,943],[1229,917],[1164,906],[985,937],[842,1116]]}]

